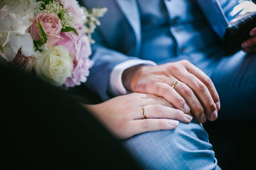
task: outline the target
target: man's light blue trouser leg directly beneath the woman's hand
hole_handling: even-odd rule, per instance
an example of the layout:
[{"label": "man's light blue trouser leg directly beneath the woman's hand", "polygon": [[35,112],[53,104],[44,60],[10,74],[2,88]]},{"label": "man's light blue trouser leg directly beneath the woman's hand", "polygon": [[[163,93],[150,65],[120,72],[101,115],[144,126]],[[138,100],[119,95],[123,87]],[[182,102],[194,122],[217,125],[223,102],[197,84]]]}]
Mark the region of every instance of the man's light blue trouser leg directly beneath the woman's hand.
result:
[{"label": "man's light blue trouser leg directly beneath the woman's hand", "polygon": [[207,132],[195,120],[136,135],[124,145],[145,169],[220,169]]}]

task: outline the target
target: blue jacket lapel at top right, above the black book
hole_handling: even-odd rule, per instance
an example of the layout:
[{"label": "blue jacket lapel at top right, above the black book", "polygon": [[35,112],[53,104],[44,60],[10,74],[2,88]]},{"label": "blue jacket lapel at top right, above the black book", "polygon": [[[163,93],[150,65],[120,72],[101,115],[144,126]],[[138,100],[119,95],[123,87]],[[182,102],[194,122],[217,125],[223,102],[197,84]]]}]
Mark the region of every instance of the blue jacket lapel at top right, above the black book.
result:
[{"label": "blue jacket lapel at top right, above the black book", "polygon": [[209,24],[212,26],[212,29],[223,38],[225,28],[228,26],[228,20],[218,0],[197,0],[197,2]]}]

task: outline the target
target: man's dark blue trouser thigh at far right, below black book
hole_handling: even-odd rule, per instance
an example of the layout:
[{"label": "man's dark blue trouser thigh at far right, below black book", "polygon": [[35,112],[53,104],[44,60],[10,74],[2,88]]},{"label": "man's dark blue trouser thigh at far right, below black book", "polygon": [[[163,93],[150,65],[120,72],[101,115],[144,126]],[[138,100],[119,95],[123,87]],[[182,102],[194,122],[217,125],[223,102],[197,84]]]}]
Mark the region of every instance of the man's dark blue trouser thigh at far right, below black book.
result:
[{"label": "man's dark blue trouser thigh at far right, below black book", "polygon": [[210,77],[221,101],[219,119],[255,121],[256,55],[238,52],[221,58],[211,69]]}]

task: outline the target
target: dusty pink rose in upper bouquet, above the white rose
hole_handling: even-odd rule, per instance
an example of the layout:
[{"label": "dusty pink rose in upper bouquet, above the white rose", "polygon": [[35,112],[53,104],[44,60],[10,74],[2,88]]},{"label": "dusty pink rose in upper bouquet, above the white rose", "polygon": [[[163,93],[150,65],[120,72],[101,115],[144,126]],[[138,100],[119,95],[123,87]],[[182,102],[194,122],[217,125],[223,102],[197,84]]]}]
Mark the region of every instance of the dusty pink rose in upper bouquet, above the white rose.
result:
[{"label": "dusty pink rose in upper bouquet, above the white rose", "polygon": [[60,36],[61,22],[58,15],[55,13],[38,13],[36,18],[29,28],[29,33],[35,40],[40,40],[41,35],[38,28],[38,22],[42,25],[47,35],[47,45],[52,46],[60,42],[63,38]]}]

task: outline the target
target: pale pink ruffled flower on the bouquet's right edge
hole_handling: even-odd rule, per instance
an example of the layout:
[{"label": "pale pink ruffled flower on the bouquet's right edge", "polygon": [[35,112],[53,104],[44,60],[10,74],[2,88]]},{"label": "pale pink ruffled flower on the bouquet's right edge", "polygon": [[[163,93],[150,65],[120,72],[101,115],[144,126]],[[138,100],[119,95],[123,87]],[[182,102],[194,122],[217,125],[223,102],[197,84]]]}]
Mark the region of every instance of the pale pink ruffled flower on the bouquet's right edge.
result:
[{"label": "pale pink ruffled flower on the bouquet's right edge", "polygon": [[74,57],[72,75],[67,78],[65,85],[67,87],[79,86],[81,82],[86,82],[89,75],[89,68],[93,61],[89,59],[92,54],[90,42],[86,35],[77,36],[73,31],[61,33],[63,41],[57,45],[63,45]]}]

